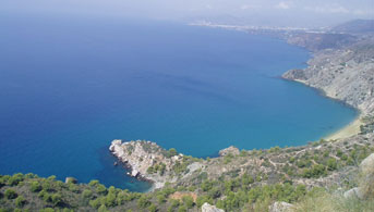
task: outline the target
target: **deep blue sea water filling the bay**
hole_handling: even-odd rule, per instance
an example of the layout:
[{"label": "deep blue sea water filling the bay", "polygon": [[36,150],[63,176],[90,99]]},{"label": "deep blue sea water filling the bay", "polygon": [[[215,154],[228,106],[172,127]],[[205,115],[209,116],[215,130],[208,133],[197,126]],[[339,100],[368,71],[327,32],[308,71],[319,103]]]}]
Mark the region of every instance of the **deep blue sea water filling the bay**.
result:
[{"label": "deep blue sea water filling the bay", "polygon": [[208,157],[230,145],[304,145],[357,115],[280,79],[310,53],[279,39],[162,22],[2,17],[0,174],[144,190],[112,165],[112,139]]}]

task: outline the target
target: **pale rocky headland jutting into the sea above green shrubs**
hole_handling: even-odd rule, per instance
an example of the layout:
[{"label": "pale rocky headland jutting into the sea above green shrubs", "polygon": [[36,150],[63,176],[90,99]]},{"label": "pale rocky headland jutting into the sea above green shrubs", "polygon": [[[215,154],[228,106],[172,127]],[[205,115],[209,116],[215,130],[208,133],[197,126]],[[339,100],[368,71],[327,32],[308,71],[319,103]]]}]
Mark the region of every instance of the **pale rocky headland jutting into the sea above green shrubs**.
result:
[{"label": "pale rocky headland jutting into the sea above green shrubs", "polygon": [[109,150],[120,162],[131,170],[129,175],[154,183],[153,189],[164,187],[165,183],[176,183],[201,169],[198,160],[166,150],[155,142],[136,140],[113,140]]}]

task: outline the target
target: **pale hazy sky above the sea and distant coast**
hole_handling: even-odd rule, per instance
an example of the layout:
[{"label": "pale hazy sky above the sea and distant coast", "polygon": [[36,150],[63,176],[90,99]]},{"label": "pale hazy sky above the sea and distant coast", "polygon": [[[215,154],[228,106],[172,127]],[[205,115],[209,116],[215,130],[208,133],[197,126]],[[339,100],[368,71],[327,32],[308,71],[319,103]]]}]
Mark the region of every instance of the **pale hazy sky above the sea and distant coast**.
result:
[{"label": "pale hazy sky above the sea and distant coast", "polygon": [[328,26],[353,18],[374,18],[374,0],[1,0],[0,13]]}]

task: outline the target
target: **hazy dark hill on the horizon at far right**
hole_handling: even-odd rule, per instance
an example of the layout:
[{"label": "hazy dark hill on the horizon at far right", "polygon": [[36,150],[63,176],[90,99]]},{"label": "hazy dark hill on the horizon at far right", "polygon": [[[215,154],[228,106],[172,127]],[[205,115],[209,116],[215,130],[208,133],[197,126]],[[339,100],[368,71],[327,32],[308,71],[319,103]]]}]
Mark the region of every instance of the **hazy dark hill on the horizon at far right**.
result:
[{"label": "hazy dark hill on the horizon at far right", "polygon": [[353,20],[331,28],[336,33],[374,34],[374,20]]}]

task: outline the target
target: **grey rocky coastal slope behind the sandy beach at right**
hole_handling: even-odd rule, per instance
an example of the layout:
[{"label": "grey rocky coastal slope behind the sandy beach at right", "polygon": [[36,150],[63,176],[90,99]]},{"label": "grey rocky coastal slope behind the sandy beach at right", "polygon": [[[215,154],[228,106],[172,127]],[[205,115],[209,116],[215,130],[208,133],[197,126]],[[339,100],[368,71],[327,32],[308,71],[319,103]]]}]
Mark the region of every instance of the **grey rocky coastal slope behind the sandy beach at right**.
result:
[{"label": "grey rocky coastal slope behind the sandy beach at right", "polygon": [[317,51],[305,70],[291,70],[283,78],[318,88],[327,97],[374,113],[374,38],[337,50]]}]

